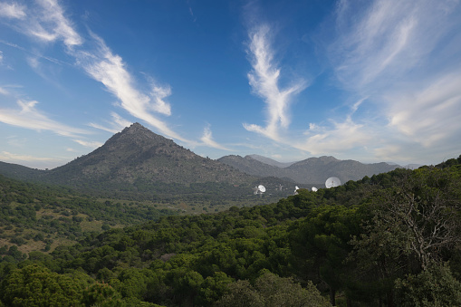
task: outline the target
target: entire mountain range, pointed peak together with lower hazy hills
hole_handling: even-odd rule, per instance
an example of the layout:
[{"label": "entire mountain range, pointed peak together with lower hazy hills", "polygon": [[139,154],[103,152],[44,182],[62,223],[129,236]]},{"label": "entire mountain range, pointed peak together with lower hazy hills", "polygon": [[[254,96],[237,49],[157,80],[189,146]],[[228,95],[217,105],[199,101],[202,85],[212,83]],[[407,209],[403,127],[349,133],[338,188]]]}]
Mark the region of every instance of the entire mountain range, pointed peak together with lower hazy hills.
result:
[{"label": "entire mountain range, pointed peak together with lower hazy hills", "polygon": [[[202,158],[134,123],[113,135],[99,149],[51,170],[0,162],[0,174],[23,180],[59,184],[85,191],[125,194],[245,195],[257,184],[272,190],[293,190],[295,184],[322,187],[326,178],[341,182],[388,172],[397,165],[362,164],[333,157],[281,163],[259,155]],[[270,190],[268,189],[268,190]]]}]

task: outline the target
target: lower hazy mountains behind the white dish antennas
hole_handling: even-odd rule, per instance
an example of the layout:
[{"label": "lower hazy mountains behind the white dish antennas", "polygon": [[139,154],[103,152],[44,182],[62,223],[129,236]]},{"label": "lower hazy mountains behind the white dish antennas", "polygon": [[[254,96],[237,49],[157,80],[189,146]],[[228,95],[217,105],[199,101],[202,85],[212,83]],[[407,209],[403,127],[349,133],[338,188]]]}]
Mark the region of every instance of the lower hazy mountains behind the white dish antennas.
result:
[{"label": "lower hazy mountains behind the white dish antennas", "polygon": [[[323,184],[328,177],[339,177],[341,182],[359,180],[399,168],[388,163],[363,164],[354,160],[339,160],[334,157],[307,158],[294,162],[288,167],[280,168],[253,158],[254,156],[226,156],[218,160],[254,176],[273,176],[290,178],[294,182],[308,185]],[[261,157],[261,156],[259,156]]]}]

